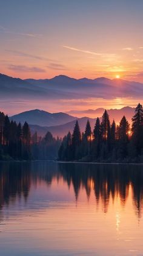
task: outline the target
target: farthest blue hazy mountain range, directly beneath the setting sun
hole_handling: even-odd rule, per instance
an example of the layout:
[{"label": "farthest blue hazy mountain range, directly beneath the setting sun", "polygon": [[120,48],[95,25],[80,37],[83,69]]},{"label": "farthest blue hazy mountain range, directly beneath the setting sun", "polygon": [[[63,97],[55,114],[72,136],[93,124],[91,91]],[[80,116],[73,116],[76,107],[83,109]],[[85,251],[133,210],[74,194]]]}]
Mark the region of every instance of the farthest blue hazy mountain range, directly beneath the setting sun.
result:
[{"label": "farthest blue hazy mountain range, directly beneath the setting sun", "polygon": [[18,79],[0,74],[0,99],[85,99],[141,97],[143,84],[122,79],[74,79],[56,76],[52,79]]}]

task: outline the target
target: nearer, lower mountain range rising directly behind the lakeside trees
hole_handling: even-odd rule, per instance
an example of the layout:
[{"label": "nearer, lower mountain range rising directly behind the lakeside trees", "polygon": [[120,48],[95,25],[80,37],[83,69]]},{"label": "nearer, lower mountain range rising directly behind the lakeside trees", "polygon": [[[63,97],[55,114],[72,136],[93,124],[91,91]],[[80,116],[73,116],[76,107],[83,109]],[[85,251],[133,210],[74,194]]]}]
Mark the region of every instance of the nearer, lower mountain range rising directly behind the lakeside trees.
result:
[{"label": "nearer, lower mountain range rising directly behind the lakeside trees", "polygon": [[[30,124],[32,133],[38,132],[39,135],[44,136],[47,131],[52,132],[53,135],[63,137],[68,131],[73,132],[73,127],[75,126],[75,121],[78,119],[81,132],[84,132],[87,119],[89,119],[91,124],[91,129],[95,126],[96,118],[101,116],[105,111],[104,108],[98,108],[96,110],[90,110],[95,113],[95,118],[88,118],[84,116],[82,118],[77,118],[75,116],[68,115],[67,113],[48,113],[44,110],[30,110],[27,112],[19,113],[18,115],[10,116],[10,119],[14,121],[21,122],[24,124],[27,121]],[[131,123],[131,117],[135,112],[135,108],[124,107],[121,109],[110,109],[107,110],[110,116],[110,121],[115,119],[116,123],[119,124],[123,115],[126,116],[128,121]],[[88,110],[87,110],[88,112]],[[101,112],[101,115],[97,115]]]}]

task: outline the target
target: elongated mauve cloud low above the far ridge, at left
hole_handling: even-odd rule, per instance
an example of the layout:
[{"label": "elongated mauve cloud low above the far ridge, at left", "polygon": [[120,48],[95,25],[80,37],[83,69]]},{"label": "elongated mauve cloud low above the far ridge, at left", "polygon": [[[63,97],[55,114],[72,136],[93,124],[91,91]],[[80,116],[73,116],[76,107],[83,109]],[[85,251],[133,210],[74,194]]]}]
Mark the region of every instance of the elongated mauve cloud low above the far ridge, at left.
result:
[{"label": "elongated mauve cloud low above the far ridge, at left", "polygon": [[13,71],[17,72],[34,72],[34,73],[45,73],[45,69],[42,68],[36,68],[36,66],[24,66],[24,65],[10,65],[8,66],[8,69],[11,69]]}]

